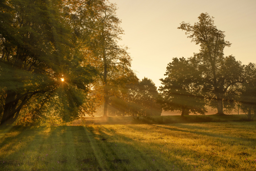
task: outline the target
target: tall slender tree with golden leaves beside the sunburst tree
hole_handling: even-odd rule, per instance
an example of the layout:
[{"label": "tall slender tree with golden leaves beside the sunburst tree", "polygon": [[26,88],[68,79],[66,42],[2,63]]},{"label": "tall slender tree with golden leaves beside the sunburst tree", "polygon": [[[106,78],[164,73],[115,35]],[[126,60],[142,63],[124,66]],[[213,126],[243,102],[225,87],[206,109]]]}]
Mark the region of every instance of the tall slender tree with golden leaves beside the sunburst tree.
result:
[{"label": "tall slender tree with golden leaves beside the sunburst tree", "polygon": [[[99,71],[99,80],[94,84],[94,88],[103,94],[103,116],[107,117],[110,98],[120,91],[118,90],[120,86],[117,84],[121,83],[120,80],[125,80],[124,77],[128,78],[133,71],[130,69],[131,57],[126,51],[127,48],[118,45],[123,30],[120,27],[121,21],[115,14],[116,7],[108,1],[99,0],[99,2],[90,10],[93,12],[88,13],[88,10],[85,9],[81,10],[80,13],[82,16],[89,15],[90,20],[93,21],[90,25],[87,25],[90,28],[90,34],[93,36],[90,37],[89,41],[85,41],[90,47],[90,50],[86,49],[85,53],[93,54],[95,57],[91,63],[88,61],[89,64],[93,65],[97,61],[97,66],[94,66]],[[94,1],[90,3],[94,3]],[[82,22],[84,18],[80,17],[80,19],[81,23],[84,23]]]}]

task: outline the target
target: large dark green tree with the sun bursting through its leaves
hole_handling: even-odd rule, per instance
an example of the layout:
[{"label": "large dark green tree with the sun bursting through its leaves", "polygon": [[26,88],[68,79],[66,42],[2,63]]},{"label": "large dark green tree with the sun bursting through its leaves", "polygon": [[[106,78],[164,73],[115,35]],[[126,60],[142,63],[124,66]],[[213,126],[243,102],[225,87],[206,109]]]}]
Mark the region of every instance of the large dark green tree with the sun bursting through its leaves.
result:
[{"label": "large dark green tree with the sun bursting through its leaves", "polygon": [[81,65],[65,4],[10,0],[1,1],[0,9],[1,125],[13,123],[30,99],[44,104],[60,88],[68,97],[64,106],[81,105],[74,90],[87,92],[96,72]]}]

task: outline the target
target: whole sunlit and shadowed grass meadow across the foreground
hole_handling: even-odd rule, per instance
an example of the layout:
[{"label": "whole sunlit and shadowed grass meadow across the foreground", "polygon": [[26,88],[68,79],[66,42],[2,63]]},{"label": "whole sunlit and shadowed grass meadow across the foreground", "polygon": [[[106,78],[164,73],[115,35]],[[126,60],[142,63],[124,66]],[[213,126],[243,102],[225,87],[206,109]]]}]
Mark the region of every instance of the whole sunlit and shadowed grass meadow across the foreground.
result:
[{"label": "whole sunlit and shadowed grass meadow across the foreground", "polygon": [[256,122],[12,127],[0,170],[256,170]]}]

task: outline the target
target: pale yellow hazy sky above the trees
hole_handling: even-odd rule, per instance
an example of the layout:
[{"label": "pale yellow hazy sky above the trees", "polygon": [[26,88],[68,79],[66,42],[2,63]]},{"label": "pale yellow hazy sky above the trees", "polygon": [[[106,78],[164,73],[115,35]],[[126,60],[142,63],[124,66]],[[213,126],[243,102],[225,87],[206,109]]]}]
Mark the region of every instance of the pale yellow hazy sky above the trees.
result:
[{"label": "pale yellow hazy sky above the trees", "polygon": [[177,29],[182,21],[198,22],[207,12],[218,29],[225,31],[225,56],[233,55],[243,64],[256,63],[256,0],[109,0],[118,7],[125,35],[121,45],[128,46],[132,69],[138,78],[151,78],[159,87],[166,66],[174,57],[191,57],[199,51]]}]

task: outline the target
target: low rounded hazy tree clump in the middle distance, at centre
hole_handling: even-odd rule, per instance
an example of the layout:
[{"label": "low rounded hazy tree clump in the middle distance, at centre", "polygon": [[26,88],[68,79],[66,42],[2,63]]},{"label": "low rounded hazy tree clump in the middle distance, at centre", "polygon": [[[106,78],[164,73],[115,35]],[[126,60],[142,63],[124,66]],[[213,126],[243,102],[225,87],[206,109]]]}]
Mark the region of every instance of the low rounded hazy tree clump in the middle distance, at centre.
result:
[{"label": "low rounded hazy tree clump in the middle distance, at centre", "polygon": [[145,77],[140,81],[135,75],[127,78],[123,84],[119,84],[122,86],[118,88],[119,91],[115,91],[114,96],[110,98],[109,102],[114,115],[161,115],[162,108],[158,103],[159,93],[154,82]]}]

